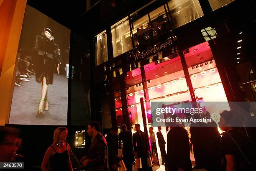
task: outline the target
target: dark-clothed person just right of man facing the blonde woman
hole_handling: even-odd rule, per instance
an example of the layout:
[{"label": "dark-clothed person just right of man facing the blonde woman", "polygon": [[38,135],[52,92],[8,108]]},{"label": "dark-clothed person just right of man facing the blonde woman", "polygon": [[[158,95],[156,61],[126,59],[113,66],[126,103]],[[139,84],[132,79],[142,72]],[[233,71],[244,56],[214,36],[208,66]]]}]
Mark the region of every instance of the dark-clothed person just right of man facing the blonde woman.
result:
[{"label": "dark-clothed person just right of man facing the blonde woman", "polygon": [[110,171],[117,171],[117,156],[118,156],[118,143],[115,138],[117,135],[118,128],[112,127],[110,133],[108,134],[106,140],[108,143],[108,165]]}]

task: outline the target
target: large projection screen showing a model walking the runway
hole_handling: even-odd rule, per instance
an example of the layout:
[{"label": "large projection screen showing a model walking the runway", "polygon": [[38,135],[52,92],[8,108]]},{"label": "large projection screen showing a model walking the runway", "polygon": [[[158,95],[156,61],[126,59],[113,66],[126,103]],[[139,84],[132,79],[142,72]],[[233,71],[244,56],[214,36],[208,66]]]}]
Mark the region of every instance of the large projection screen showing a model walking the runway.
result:
[{"label": "large projection screen showing a model walking the runway", "polygon": [[9,124],[67,125],[70,30],[26,6]]}]

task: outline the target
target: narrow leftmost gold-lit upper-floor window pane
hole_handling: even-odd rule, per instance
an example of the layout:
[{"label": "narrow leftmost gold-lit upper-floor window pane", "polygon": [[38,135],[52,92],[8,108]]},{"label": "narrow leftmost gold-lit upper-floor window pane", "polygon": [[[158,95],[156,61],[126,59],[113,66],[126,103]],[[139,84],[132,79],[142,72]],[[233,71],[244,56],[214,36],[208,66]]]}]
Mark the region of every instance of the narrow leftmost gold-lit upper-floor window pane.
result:
[{"label": "narrow leftmost gold-lit upper-floor window pane", "polygon": [[108,61],[106,30],[95,37],[96,66]]}]

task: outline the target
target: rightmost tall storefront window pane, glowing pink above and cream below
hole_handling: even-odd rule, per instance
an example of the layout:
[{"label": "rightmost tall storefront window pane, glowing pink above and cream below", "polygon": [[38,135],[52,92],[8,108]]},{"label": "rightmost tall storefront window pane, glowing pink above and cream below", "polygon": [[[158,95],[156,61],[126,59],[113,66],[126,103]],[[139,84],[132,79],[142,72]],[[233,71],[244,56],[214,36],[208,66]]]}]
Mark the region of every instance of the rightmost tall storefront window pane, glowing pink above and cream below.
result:
[{"label": "rightmost tall storefront window pane, glowing pink above and cream below", "polygon": [[[187,49],[184,56],[197,102],[228,102],[209,43]],[[205,103],[205,109],[212,119],[220,112],[212,103]],[[230,108],[227,106],[225,110]]]}]

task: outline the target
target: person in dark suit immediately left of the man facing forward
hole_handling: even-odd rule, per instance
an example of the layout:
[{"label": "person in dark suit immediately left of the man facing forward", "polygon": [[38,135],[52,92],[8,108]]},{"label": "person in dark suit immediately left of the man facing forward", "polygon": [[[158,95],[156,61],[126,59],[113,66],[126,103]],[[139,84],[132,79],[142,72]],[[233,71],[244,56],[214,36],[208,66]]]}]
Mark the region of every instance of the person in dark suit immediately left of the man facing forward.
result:
[{"label": "person in dark suit immediately left of the man facing forward", "polygon": [[[123,148],[121,147],[121,141],[123,142]],[[123,149],[123,161],[127,171],[132,171],[134,160],[133,137],[131,130],[127,130],[126,125],[121,126],[118,142],[119,147]]]}]

